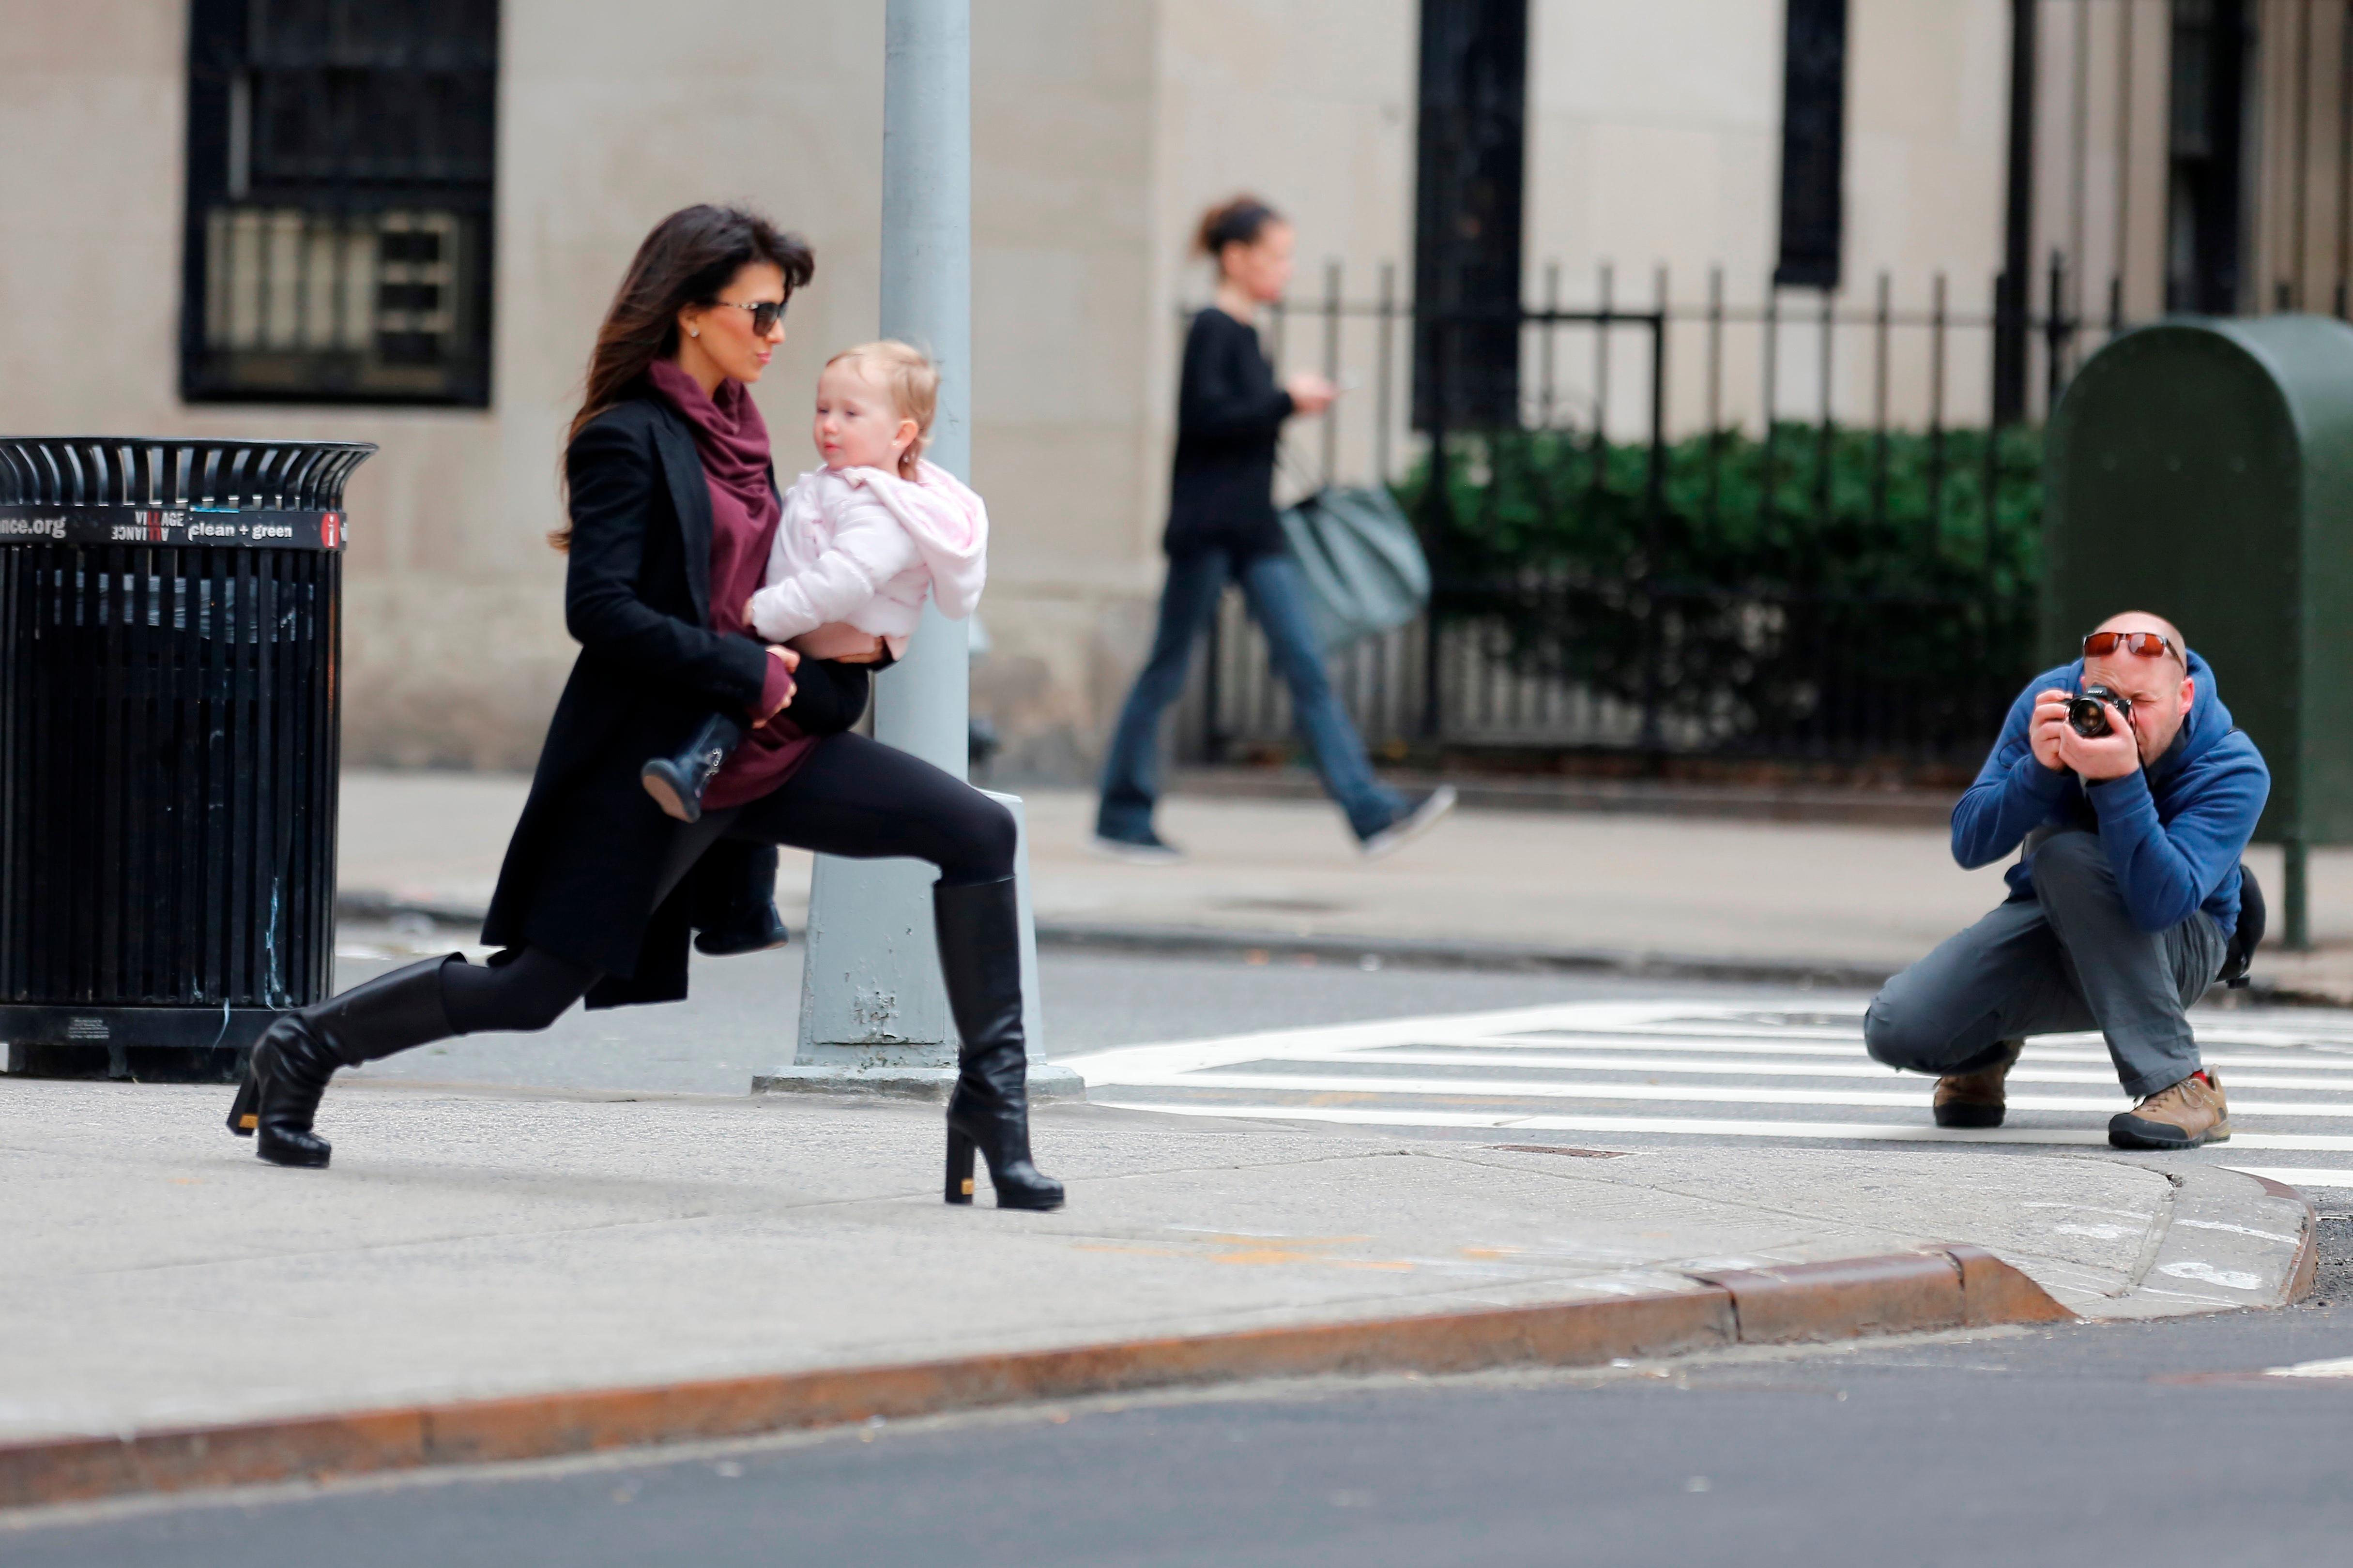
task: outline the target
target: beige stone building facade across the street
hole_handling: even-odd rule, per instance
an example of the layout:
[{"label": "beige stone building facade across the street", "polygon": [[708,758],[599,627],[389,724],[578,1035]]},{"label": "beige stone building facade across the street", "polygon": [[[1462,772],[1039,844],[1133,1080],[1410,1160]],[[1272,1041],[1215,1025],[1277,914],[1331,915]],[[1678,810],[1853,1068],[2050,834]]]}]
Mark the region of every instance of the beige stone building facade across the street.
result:
[{"label": "beige stone building facade across the street", "polygon": [[[254,26],[329,33],[452,2],[235,0]],[[351,491],[353,762],[529,766],[572,658],[562,559],[544,543],[560,435],[598,315],[654,219],[744,200],[814,244],[816,282],[758,393],[784,468],[802,461],[814,367],[875,322],[882,0],[478,5],[496,40],[487,395],[431,407],[186,395],[184,324],[207,308],[186,287],[191,202],[209,188],[191,172],[191,61],[219,7],[0,0],[0,430],[379,442]],[[1682,296],[1722,268],[1734,299],[1760,299],[1781,212],[1786,5],[1525,0],[1529,296],[1551,263],[1591,294],[1614,261],[1628,296],[1659,268]],[[2172,242],[2169,61],[2198,7],[2028,5],[2045,99],[2031,249],[2071,247],[2078,287],[2113,270],[2134,310],[2153,310]],[[2341,148],[2297,162],[2292,139],[2337,125],[2341,75],[2294,66],[2341,56],[2344,7],[2214,5],[2261,28],[2249,190],[2297,179],[2320,202],[2292,228],[2249,195],[2249,282],[2235,287],[2294,244],[2299,277],[2341,273]],[[2005,256],[2017,7],[1835,9],[1840,296],[1882,270],[1908,306],[1939,270],[1981,292]],[[1304,289],[1325,259],[1351,296],[1381,263],[1412,280],[1424,24],[1417,0],[974,0],[972,480],[998,529],[974,703],[1007,733],[1009,773],[1085,776],[1141,656],[1179,313],[1207,294],[1186,256],[1198,209],[1238,188],[1287,209]],[[1682,378],[1680,423],[1692,395]],[[1732,397],[1727,416],[1746,414]]]}]

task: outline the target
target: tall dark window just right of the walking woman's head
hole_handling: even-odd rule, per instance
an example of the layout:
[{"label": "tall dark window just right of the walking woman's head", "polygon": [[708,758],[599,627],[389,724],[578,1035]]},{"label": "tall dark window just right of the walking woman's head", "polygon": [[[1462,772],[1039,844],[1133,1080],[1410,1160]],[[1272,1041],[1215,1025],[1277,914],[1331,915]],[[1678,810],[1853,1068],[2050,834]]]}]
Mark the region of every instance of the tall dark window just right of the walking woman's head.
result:
[{"label": "tall dark window just right of the walking woman's head", "polygon": [[1520,421],[1527,0],[1421,0],[1414,423]]}]

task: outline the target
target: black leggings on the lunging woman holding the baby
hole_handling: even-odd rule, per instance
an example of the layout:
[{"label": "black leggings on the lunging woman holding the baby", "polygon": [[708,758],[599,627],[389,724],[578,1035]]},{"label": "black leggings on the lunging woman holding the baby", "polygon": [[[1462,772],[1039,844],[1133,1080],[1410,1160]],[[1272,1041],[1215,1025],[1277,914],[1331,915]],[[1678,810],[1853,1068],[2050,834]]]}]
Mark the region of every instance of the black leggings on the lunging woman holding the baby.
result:
[{"label": "black leggings on the lunging woman holding the baby", "polygon": [[[1014,875],[1014,813],[960,778],[894,745],[856,733],[826,736],[800,769],[744,806],[706,811],[678,830],[654,905],[704,851],[727,839],[880,860],[908,856],[951,884]],[[487,966],[442,969],[442,1006],[459,1034],[544,1030],[588,994],[598,971],[539,947],[501,952]]]}]

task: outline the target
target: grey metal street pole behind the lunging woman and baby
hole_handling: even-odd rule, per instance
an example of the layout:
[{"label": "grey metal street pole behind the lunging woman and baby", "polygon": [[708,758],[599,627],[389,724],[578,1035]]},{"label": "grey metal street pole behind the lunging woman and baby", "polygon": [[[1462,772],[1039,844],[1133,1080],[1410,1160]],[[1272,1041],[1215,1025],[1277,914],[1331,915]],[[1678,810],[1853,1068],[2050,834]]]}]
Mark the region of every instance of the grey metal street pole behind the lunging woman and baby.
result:
[{"label": "grey metal street pole behind the lunging woman and baby", "polygon": [[[882,336],[941,369],[934,463],[972,473],[972,0],[889,0],[882,21]],[[875,679],[875,738],[958,778],[967,630],[925,604],[906,658]],[[809,884],[798,1067],[941,1070],[955,1030],[920,860],[819,856]],[[929,1077],[929,1074],[908,1074]]]}]

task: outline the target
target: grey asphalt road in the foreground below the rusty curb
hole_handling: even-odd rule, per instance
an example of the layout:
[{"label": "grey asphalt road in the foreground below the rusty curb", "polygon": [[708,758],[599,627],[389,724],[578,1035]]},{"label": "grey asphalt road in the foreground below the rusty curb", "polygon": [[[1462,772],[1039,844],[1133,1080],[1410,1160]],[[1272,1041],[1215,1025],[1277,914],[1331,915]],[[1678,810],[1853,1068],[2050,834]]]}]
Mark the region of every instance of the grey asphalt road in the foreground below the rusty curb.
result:
[{"label": "grey asphalt road in the foreground below the rusty curb", "polygon": [[1264,1385],[0,1521],[16,1568],[2341,1563],[2353,1220],[2271,1314]]}]

